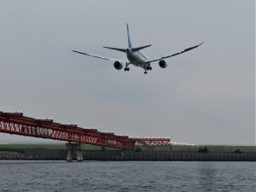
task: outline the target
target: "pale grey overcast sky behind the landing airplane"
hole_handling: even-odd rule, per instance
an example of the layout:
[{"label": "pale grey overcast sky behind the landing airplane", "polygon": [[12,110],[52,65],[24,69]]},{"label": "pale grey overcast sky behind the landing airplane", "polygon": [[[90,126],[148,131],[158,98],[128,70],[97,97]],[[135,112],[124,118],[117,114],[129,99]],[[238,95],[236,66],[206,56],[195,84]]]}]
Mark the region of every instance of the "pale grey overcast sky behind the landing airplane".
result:
[{"label": "pale grey overcast sky behind the landing airplane", "polygon": [[[0,111],[23,111],[131,137],[183,143],[255,143],[254,1],[0,1]],[[143,69],[102,46],[148,58],[201,47]],[[20,139],[0,133],[0,139]],[[26,138],[27,139],[27,138]]]}]

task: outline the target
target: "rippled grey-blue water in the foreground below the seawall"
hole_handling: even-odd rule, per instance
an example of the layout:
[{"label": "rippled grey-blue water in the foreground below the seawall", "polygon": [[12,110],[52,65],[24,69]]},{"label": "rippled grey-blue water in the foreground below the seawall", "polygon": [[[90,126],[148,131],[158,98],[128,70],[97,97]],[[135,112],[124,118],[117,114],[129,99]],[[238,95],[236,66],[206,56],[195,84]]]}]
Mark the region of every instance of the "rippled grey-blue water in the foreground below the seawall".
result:
[{"label": "rippled grey-blue water in the foreground below the seawall", "polygon": [[256,191],[255,166],[255,162],[0,160],[0,191]]}]

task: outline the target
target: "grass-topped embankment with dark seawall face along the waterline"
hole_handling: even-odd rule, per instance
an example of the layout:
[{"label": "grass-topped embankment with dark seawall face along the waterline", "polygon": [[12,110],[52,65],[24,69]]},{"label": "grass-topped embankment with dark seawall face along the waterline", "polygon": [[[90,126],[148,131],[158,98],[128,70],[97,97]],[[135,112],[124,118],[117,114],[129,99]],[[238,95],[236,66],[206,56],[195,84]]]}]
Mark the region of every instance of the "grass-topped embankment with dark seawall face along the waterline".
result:
[{"label": "grass-topped embankment with dark seawall face along the waterline", "polygon": [[[66,160],[65,144],[0,144],[0,160]],[[172,145],[120,150],[84,145],[84,160],[256,161],[256,146]]]}]

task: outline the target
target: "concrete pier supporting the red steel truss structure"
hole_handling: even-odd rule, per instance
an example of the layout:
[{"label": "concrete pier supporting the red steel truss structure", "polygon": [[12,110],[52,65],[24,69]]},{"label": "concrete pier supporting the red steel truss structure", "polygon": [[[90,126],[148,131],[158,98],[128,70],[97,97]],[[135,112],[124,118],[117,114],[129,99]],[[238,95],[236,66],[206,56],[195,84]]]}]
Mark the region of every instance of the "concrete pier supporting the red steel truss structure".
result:
[{"label": "concrete pier supporting the red steel truss structure", "polygon": [[82,145],[82,143],[66,143],[67,162],[73,161],[73,154],[76,155],[76,160],[78,162],[83,161]]}]

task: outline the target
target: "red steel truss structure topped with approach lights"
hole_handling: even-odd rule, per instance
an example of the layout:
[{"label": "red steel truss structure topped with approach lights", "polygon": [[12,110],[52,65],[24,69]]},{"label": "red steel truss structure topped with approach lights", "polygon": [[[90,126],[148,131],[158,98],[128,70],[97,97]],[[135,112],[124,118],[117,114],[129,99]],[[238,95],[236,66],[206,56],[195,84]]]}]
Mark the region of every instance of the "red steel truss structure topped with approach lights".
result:
[{"label": "red steel truss structure topped with approach lights", "polygon": [[136,145],[164,146],[171,144],[170,138],[117,136],[113,132],[101,132],[96,129],[84,129],[73,124],[55,123],[53,119],[33,119],[23,116],[23,113],[0,112],[0,132],[111,148],[135,148]]}]

